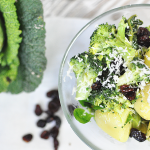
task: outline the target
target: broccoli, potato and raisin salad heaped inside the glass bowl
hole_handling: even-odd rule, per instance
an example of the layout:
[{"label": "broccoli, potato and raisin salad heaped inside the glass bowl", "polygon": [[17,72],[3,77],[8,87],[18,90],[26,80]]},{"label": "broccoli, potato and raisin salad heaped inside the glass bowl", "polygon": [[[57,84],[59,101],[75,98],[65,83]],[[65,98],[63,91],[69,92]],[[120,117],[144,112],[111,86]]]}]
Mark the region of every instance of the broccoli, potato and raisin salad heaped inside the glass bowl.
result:
[{"label": "broccoli, potato and raisin salad heaped inside the glass bowl", "polygon": [[137,18],[98,25],[89,49],[69,64],[81,104],[74,117],[83,124],[93,117],[120,142],[150,139],[150,26]]}]

